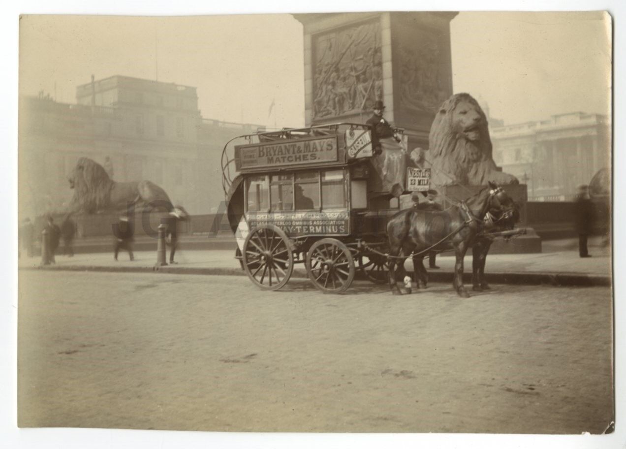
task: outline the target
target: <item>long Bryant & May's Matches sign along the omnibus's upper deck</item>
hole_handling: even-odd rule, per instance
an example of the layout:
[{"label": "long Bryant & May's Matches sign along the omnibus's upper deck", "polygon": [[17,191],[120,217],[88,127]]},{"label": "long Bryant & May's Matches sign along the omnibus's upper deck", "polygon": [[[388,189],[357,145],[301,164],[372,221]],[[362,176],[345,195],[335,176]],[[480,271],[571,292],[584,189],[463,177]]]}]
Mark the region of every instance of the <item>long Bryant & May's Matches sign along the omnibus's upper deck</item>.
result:
[{"label": "long Bryant & May's Matches sign along the omnibus's upper deck", "polygon": [[275,167],[337,160],[337,137],[265,143],[238,147],[239,167]]}]

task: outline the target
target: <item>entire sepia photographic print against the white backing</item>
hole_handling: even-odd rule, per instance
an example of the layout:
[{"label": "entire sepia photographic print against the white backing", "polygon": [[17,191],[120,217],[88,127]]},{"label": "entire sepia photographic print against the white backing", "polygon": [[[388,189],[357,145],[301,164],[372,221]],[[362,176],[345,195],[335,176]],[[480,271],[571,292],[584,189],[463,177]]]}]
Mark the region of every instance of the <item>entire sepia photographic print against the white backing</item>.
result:
[{"label": "entire sepia photographic print against the white backing", "polygon": [[16,16],[16,426],[606,446],[616,18],[457,8]]}]

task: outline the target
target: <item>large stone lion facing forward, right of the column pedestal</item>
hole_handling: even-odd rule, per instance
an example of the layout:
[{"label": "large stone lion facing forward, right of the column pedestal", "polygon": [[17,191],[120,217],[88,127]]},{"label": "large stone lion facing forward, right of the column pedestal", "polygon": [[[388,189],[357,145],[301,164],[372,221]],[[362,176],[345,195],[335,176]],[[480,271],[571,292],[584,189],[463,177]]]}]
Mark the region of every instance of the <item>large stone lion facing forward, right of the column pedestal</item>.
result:
[{"label": "large stone lion facing forward, right of the column pedestal", "polygon": [[519,183],[493,162],[485,113],[468,93],[457,93],[444,101],[431,126],[429,145],[433,185]]}]

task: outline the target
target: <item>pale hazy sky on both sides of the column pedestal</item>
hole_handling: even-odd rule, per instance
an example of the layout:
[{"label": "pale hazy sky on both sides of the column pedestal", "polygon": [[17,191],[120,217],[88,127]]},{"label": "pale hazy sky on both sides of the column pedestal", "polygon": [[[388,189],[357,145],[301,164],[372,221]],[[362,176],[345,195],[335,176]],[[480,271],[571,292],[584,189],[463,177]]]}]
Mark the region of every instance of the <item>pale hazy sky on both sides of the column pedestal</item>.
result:
[{"label": "pale hazy sky on both sides of the column pedestal", "polygon": [[[602,13],[460,13],[451,22],[454,91],[507,123],[608,113],[610,41]],[[112,75],[198,88],[205,118],[304,125],[302,26],[289,14],[120,18],[24,16],[20,93],[73,103]],[[274,113],[268,115],[275,98]]]}]

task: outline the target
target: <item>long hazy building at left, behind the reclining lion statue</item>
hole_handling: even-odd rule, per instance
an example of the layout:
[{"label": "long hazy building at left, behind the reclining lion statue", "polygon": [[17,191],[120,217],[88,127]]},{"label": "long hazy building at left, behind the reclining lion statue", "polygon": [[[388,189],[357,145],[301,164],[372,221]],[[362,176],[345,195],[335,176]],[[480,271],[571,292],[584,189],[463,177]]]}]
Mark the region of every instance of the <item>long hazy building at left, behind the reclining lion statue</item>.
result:
[{"label": "long hazy building at left, behind the reclining lion statue", "polygon": [[191,214],[223,200],[220,157],[232,137],[260,126],[203,119],[195,87],[111,76],[76,88],[76,104],[40,93],[19,105],[20,212],[58,209],[68,174],[90,157],[119,182],[150,180]]}]

